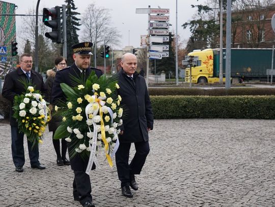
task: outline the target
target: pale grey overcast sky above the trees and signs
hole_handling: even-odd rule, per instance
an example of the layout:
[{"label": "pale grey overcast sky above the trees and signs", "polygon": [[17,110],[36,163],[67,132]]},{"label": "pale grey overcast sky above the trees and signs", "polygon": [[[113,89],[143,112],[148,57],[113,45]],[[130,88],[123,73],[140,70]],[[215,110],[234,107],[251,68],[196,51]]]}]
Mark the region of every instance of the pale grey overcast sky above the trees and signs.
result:
[{"label": "pale grey overcast sky above the trees and signs", "polygon": [[[26,14],[30,8],[36,8],[36,0],[4,0],[5,2],[13,3],[18,6],[16,14]],[[178,0],[178,34],[182,41],[185,42],[190,36],[188,29],[183,29],[182,24],[191,19],[195,14],[196,9],[191,8],[191,4],[201,4],[203,0]],[[95,3],[97,7],[104,7],[111,9],[110,14],[112,16],[111,21],[113,25],[121,32],[121,44],[115,46],[115,49],[121,49],[125,46],[140,47],[140,36],[147,35],[148,28],[148,15],[147,14],[135,14],[136,8],[151,8],[170,9],[170,31],[176,33],[176,0],[100,0],[100,1],[83,1],[74,0],[77,12],[84,13],[88,4]],[[51,8],[54,6],[61,6],[65,4],[63,0],[40,0],[39,11],[42,8]],[[16,17],[16,27],[20,28],[21,24],[20,16]],[[81,18],[79,15],[78,18]],[[81,27],[80,27],[81,28]],[[18,31],[18,30],[17,30]],[[19,33],[17,33],[19,34]],[[81,30],[78,33],[81,39]]]}]

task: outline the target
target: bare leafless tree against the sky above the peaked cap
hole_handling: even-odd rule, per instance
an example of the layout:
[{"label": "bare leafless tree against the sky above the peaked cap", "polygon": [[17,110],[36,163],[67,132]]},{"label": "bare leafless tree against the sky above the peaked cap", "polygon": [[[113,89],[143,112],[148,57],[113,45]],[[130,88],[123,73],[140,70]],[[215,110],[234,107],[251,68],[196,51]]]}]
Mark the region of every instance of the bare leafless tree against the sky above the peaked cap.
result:
[{"label": "bare leafless tree against the sky above the peaked cap", "polygon": [[104,40],[107,45],[118,45],[121,35],[116,27],[112,27],[109,9],[97,7],[94,3],[88,5],[84,15],[81,18],[81,24],[84,25],[83,37],[81,39],[89,40],[94,45],[103,45]]}]

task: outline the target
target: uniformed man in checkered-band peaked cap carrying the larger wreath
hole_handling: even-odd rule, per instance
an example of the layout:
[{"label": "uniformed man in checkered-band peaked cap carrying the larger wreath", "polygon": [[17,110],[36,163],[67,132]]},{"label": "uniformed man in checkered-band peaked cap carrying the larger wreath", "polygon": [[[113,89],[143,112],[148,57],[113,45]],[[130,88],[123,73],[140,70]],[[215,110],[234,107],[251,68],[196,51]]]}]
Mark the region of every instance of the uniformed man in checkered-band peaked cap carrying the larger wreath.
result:
[{"label": "uniformed man in checkered-band peaked cap carrying the larger wreath", "polygon": [[[91,42],[82,42],[72,46],[73,49],[73,60],[74,64],[56,73],[56,78],[53,82],[52,87],[52,103],[59,106],[60,101],[66,102],[65,94],[63,93],[60,83],[66,83],[69,86],[76,86],[71,80],[71,76],[77,78],[84,77],[85,80],[89,77],[92,71],[95,71],[97,77],[102,75],[102,71],[96,68],[90,67],[91,62]],[[69,152],[74,150],[74,146],[71,142],[68,142]],[[79,200],[79,202],[85,207],[95,206],[92,202],[92,188],[90,182],[90,176],[86,173],[86,168],[88,165],[89,157],[87,159],[82,159],[79,155],[71,158],[71,168],[74,172],[73,180],[73,198],[74,200]],[[95,168],[93,165],[92,169]]]}]

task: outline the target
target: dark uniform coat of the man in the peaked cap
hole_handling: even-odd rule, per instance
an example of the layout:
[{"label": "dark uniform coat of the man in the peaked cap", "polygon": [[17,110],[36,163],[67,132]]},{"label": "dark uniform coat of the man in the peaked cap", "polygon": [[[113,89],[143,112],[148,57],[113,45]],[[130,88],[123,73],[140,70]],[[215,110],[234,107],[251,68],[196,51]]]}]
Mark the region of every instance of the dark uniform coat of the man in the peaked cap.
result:
[{"label": "dark uniform coat of the man in the peaked cap", "polygon": [[[102,75],[101,70],[96,68],[88,68],[86,69],[85,79],[89,77],[92,71],[95,71],[97,77],[100,77]],[[81,77],[81,72],[79,71],[79,69],[76,67],[75,64],[73,64],[69,68],[65,68],[56,73],[56,78],[54,78],[52,93],[51,93],[51,99],[52,99],[51,102],[53,104],[59,105],[60,100],[66,102],[66,97],[61,89],[60,83],[66,83],[71,87],[76,86],[70,78],[71,75],[78,78]],[[68,142],[68,149],[69,151],[74,150],[74,146],[71,144],[71,142]],[[76,155],[73,159],[70,158],[71,168],[72,170],[76,170],[76,171],[86,171],[88,161],[89,161],[89,158],[83,159],[79,155]],[[92,169],[94,168],[95,168],[95,165],[93,165]]]}]

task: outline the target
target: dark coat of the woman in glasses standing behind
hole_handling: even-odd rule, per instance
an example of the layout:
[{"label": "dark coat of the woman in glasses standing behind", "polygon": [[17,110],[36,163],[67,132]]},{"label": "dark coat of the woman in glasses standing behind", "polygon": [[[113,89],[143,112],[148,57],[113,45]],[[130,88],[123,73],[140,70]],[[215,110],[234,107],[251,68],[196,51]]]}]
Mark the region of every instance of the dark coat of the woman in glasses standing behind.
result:
[{"label": "dark coat of the woman in glasses standing behind", "polygon": [[56,77],[56,69],[50,69],[47,70],[47,79],[45,82],[46,88],[47,88],[47,96],[45,97],[45,100],[50,103],[51,105],[51,120],[48,123],[49,131],[53,132],[56,131],[59,125],[61,124],[62,117],[54,115],[54,105],[51,103],[51,91],[52,91],[52,85],[54,78]]}]

